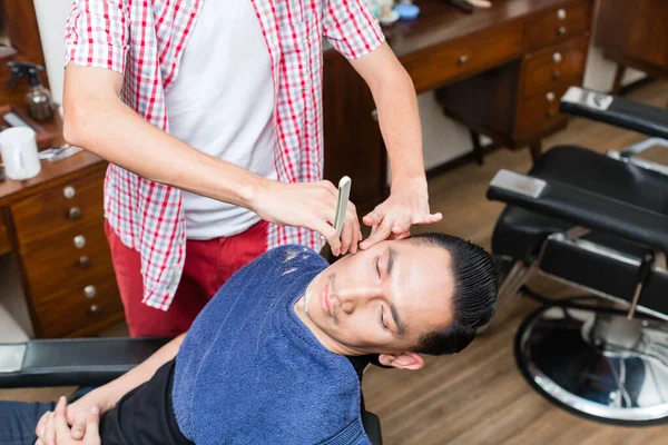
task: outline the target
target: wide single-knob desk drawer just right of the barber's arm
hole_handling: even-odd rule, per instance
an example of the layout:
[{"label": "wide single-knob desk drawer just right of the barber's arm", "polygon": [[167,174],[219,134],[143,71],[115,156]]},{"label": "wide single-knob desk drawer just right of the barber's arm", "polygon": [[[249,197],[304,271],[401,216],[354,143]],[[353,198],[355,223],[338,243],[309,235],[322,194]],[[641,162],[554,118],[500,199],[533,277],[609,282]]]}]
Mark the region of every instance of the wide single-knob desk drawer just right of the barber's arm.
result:
[{"label": "wide single-knob desk drawer just right of the barber's arm", "polygon": [[401,62],[418,92],[422,92],[518,58],[522,38],[523,26],[515,22],[424,49],[403,57]]}]

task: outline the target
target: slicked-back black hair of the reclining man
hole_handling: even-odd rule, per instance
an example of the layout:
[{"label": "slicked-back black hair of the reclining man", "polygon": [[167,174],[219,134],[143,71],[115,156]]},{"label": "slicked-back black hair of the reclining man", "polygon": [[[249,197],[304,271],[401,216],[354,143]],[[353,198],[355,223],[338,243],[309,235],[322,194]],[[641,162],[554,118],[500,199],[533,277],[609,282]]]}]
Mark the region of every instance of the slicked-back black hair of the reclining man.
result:
[{"label": "slicked-back black hair of the reclining man", "polygon": [[499,277],[492,258],[482,247],[452,235],[419,234],[409,239],[448,250],[454,281],[452,322],[423,334],[414,352],[456,354],[473,342],[477,330],[490,323],[495,314]]}]

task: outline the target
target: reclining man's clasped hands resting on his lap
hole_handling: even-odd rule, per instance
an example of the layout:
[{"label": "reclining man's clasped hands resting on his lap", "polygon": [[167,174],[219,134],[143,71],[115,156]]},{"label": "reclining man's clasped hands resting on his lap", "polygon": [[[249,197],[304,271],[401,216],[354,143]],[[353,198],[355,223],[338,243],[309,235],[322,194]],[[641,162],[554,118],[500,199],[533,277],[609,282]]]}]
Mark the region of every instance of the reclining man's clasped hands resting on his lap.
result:
[{"label": "reclining man's clasped hands resting on his lap", "polygon": [[65,397],[60,397],[56,411],[48,412],[45,436],[39,436],[36,445],[101,445],[99,434],[99,412],[91,408],[86,416],[86,435],[80,439],[71,437],[70,428],[66,419],[67,402]]}]

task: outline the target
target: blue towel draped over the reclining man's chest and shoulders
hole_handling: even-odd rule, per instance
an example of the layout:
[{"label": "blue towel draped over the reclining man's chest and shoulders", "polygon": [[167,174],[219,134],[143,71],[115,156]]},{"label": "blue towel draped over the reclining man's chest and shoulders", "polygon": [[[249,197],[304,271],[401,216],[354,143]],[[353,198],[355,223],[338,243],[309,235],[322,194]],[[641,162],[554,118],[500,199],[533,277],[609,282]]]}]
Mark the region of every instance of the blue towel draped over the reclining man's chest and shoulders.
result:
[{"label": "blue towel draped over the reclining man's chest and shoulders", "polygon": [[279,247],[207,304],[176,356],[173,402],[186,437],[198,445],[370,443],[352,364],[294,312],[326,267],[311,249]]}]

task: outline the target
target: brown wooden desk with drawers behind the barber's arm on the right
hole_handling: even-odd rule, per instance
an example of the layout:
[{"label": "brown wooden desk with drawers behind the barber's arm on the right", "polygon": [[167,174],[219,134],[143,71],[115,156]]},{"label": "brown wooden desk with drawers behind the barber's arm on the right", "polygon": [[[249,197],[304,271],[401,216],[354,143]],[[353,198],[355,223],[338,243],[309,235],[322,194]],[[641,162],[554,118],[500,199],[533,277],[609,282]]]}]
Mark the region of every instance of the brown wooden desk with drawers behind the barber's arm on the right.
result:
[{"label": "brown wooden desk with drawers behind the barber's arm on the right", "polygon": [[[416,0],[421,14],[384,29],[418,93],[436,91],[443,111],[508,148],[532,147],[567,123],[559,98],[581,85],[590,0],[494,0],[466,14]],[[333,49],[324,55],[325,177],[353,179],[360,214],[386,195],[386,158],[364,81]],[[481,160],[481,154],[479,152]]]}]

